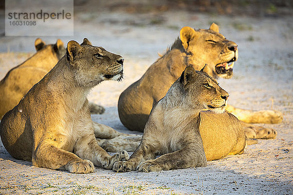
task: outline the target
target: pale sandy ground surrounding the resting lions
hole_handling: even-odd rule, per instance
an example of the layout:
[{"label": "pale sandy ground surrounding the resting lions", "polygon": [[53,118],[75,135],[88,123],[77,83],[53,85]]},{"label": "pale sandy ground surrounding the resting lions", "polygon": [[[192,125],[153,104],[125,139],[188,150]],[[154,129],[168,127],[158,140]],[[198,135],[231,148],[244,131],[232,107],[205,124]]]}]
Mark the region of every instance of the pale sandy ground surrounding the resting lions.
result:
[{"label": "pale sandy ground surrounding the resting lions", "polygon": [[[78,20],[77,20],[78,19]],[[162,21],[162,22],[161,22]],[[125,79],[95,87],[89,100],[105,106],[96,122],[123,132],[117,112],[121,92],[139,79],[147,67],[163,54],[183,26],[208,28],[214,21],[227,39],[239,45],[234,77],[219,79],[230,93],[230,104],[240,108],[281,111],[274,128],[275,139],[259,140],[243,155],[208,162],[204,168],[152,173],[115,173],[96,168],[86,175],[38,168],[11,157],[0,146],[0,194],[293,194],[293,23],[292,17],[250,18],[165,12],[129,15],[123,12],[80,13],[75,16],[75,36],[82,41],[121,54]],[[0,79],[34,50],[35,37],[0,38]],[[42,38],[48,43],[56,37]],[[10,51],[10,53],[7,53]],[[21,53],[20,53],[21,52]]]}]

